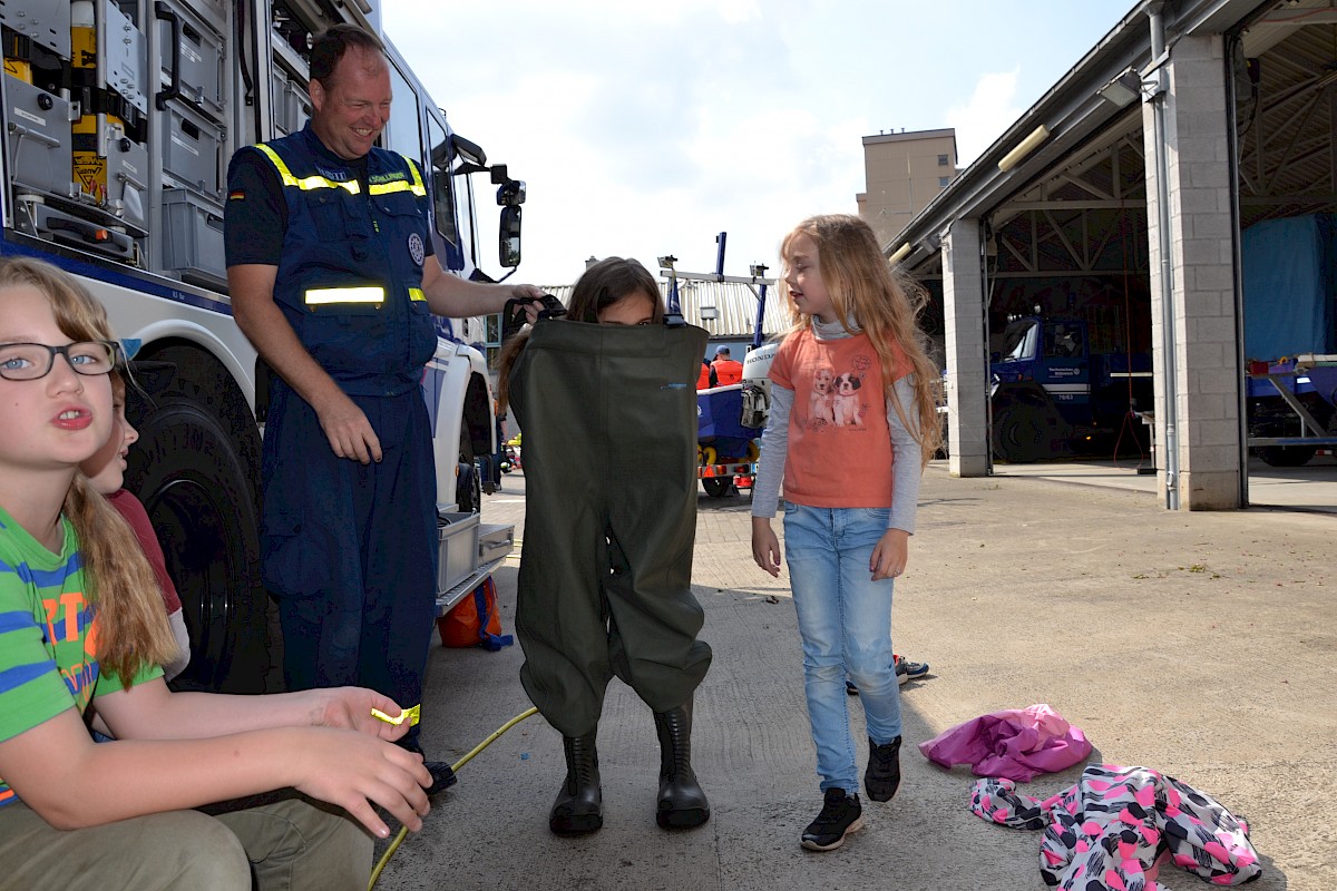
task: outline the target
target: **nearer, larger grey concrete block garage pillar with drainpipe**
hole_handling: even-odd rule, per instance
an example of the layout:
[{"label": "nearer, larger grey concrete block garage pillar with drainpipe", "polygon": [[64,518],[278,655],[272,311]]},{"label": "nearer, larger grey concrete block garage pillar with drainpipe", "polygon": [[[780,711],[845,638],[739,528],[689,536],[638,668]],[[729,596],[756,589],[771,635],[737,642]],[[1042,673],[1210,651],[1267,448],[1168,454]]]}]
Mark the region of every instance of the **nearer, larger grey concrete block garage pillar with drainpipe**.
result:
[{"label": "nearer, larger grey concrete block garage pillar with drainpipe", "polygon": [[1170,281],[1174,350],[1165,343],[1155,123],[1143,106],[1147,222],[1151,250],[1151,337],[1155,345],[1157,466],[1166,474],[1166,374],[1173,361],[1179,458],[1179,506],[1242,506],[1243,443],[1239,421],[1234,222],[1230,218],[1225,43],[1219,35],[1181,37],[1166,63],[1166,144],[1170,200]]}]

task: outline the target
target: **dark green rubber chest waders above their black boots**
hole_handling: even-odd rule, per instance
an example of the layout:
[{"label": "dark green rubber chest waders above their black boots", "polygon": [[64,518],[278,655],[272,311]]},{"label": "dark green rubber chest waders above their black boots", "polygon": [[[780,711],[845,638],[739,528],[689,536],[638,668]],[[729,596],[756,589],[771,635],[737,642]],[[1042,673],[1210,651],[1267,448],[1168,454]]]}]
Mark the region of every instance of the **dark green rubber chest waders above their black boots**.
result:
[{"label": "dark green rubber chest waders above their black boots", "polygon": [[687,703],[710,667],[691,593],[705,349],[686,325],[541,321],[511,371],[525,476],[520,680],[563,736],[595,731],[614,675],[658,713]]}]

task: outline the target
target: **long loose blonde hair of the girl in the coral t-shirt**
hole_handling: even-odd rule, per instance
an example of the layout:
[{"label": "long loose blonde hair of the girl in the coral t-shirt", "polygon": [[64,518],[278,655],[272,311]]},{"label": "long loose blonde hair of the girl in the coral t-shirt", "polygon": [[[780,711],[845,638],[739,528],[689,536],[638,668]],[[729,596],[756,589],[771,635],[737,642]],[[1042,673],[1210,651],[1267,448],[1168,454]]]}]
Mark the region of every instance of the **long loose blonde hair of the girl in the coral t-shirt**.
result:
[{"label": "long loose blonde hair of the girl in the coral t-shirt", "polygon": [[[854,333],[850,323],[857,325],[877,350],[886,398],[915,434],[920,445],[920,464],[928,464],[943,445],[943,430],[937,418],[939,370],[928,358],[928,337],[917,322],[928,302],[927,291],[886,262],[873,230],[858,216],[826,214],[810,216],[796,226],[779,246],[786,269],[793,256],[794,239],[801,235],[813,239],[817,246],[822,285],[841,325],[850,334]],[[810,329],[812,317],[798,311],[783,279],[779,291],[793,323],[790,333]],[[896,346],[900,346],[915,375],[913,422],[896,394]]]}]

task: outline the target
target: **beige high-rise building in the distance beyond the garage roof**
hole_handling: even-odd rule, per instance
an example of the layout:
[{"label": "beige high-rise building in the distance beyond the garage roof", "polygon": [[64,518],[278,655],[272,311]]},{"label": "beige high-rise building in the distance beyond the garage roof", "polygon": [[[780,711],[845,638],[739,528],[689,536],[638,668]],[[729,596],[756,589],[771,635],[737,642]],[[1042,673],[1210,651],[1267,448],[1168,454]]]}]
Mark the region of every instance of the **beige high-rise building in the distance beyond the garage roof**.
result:
[{"label": "beige high-rise building in the distance beyond the garage roof", "polygon": [[956,178],[956,131],[917,130],[864,136],[858,215],[885,248]]}]

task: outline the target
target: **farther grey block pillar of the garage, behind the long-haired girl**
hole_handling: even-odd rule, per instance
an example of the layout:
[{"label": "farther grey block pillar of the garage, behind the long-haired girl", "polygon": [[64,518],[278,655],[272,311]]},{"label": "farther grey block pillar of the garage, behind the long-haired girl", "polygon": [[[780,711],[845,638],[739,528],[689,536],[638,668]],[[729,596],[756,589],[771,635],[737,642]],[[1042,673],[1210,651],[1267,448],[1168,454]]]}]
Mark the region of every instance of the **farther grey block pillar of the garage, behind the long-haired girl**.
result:
[{"label": "farther grey block pillar of the garage, behind the long-haired girl", "polygon": [[983,299],[980,220],[959,219],[943,239],[948,472],[953,477],[983,477],[989,472]]}]

